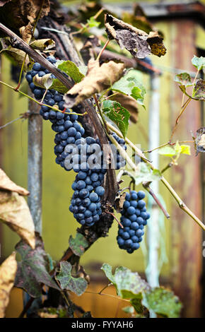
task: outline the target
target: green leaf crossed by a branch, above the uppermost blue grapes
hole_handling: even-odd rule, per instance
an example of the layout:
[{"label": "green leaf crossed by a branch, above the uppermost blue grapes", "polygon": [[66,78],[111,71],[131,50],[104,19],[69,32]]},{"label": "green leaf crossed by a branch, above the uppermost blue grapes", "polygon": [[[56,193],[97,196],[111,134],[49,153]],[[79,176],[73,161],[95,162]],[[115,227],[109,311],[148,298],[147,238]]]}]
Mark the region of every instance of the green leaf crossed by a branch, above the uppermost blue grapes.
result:
[{"label": "green leaf crossed by a branch, above the uppermost blue grapes", "polygon": [[[56,66],[58,69],[64,71],[64,73],[66,73],[69,77],[71,77],[75,83],[81,82],[81,80],[84,77],[83,73],[81,73],[76,64],[74,64],[74,62],[72,61],[59,60],[57,61]],[[63,83],[61,83],[61,81],[59,81],[58,78],[54,78],[51,89],[57,90],[59,91],[59,93],[63,94],[68,91],[68,88],[66,88],[66,86]]]}]

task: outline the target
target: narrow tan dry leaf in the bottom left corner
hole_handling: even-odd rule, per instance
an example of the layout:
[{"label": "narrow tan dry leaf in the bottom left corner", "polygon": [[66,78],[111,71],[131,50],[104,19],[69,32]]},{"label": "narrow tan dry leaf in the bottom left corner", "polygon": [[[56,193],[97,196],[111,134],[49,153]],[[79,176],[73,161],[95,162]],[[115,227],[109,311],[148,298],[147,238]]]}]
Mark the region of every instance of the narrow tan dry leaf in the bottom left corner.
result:
[{"label": "narrow tan dry leaf in the bottom left corner", "polygon": [[5,316],[16,271],[16,252],[13,251],[13,254],[11,254],[0,266],[0,318],[4,318]]}]

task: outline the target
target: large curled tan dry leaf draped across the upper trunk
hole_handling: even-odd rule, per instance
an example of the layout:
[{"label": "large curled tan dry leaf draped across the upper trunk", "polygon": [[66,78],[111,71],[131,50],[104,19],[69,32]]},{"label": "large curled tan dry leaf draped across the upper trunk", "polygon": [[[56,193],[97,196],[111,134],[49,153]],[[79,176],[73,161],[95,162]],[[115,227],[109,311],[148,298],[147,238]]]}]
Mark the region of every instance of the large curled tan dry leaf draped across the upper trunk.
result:
[{"label": "large curled tan dry leaf draped across the upper trunk", "polygon": [[88,62],[88,71],[85,78],[65,95],[66,107],[78,105],[94,93],[109,88],[113,83],[122,77],[124,64],[109,61],[100,66],[99,61],[90,60]]}]

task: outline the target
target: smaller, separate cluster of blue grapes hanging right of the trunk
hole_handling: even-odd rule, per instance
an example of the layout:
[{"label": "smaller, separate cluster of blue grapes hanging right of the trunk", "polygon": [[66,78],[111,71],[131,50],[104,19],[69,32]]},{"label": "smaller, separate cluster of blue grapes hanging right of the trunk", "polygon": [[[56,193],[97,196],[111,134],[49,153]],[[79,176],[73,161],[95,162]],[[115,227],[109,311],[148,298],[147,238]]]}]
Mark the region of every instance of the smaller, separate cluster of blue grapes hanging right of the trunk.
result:
[{"label": "smaller, separate cluster of blue grapes hanging right of the trunk", "polygon": [[144,226],[150,214],[146,211],[144,191],[130,191],[126,193],[119,225],[117,244],[120,249],[125,249],[129,254],[139,249],[139,242],[144,235]]}]

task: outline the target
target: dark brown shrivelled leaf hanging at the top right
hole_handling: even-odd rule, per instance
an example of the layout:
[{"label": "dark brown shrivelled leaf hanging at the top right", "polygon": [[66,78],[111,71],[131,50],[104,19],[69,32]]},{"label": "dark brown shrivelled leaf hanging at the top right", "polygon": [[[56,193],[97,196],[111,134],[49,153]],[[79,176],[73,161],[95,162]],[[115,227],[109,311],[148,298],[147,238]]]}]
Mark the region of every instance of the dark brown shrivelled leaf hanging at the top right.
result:
[{"label": "dark brown shrivelled leaf hanging at the top right", "polygon": [[116,40],[121,49],[126,48],[135,58],[143,59],[151,53],[161,57],[166,53],[163,37],[156,31],[147,34],[109,14],[105,14],[105,28],[110,40]]}]

